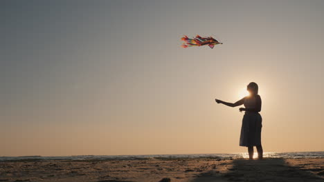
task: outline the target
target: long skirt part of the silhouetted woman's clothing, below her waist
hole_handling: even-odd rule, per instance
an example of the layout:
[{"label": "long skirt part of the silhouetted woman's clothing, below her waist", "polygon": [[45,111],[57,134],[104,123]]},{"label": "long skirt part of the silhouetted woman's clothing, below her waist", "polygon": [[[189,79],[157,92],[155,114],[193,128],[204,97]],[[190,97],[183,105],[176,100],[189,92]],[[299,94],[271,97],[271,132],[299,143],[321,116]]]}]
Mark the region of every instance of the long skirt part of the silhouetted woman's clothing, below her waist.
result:
[{"label": "long skirt part of the silhouetted woman's clothing, below her waist", "polygon": [[261,145],[262,117],[258,112],[245,112],[242,120],[240,146]]}]

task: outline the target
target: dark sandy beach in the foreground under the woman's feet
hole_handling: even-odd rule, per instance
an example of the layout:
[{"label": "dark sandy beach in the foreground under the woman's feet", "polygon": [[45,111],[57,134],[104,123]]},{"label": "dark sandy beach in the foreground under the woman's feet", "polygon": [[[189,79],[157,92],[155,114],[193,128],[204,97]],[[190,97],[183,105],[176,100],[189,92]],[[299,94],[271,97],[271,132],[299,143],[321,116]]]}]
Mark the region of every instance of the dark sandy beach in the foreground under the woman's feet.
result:
[{"label": "dark sandy beach in the foreground under the woman's feet", "polygon": [[[0,181],[324,181],[324,159],[0,161]],[[165,179],[164,181],[168,181]]]}]

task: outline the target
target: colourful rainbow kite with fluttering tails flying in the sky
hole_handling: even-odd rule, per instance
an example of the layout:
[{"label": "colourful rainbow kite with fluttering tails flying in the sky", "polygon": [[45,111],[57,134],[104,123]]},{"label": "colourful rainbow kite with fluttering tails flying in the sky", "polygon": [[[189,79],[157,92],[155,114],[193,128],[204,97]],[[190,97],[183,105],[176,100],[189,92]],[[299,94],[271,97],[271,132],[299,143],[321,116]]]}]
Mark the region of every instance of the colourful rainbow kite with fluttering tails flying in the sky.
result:
[{"label": "colourful rainbow kite with fluttering tails flying in the sky", "polygon": [[192,46],[201,46],[201,45],[208,45],[211,49],[214,48],[217,44],[223,44],[214,39],[213,37],[200,37],[197,35],[193,39],[189,39],[186,35],[181,38],[181,41],[185,41],[185,43],[182,43],[182,48],[188,48]]}]

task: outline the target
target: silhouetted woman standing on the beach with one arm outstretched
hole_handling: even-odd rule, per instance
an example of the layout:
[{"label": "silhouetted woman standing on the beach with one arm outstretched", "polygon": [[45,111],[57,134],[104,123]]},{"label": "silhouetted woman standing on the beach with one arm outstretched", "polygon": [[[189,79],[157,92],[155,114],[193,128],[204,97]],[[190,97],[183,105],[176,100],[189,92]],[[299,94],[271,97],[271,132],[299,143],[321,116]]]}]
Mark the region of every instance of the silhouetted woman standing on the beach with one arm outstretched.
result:
[{"label": "silhouetted woman standing on the beach with one arm outstretched", "polygon": [[219,99],[215,99],[217,103],[222,103],[230,107],[236,107],[244,104],[245,108],[240,108],[240,112],[245,111],[242,128],[240,135],[240,146],[248,148],[249,159],[253,159],[253,146],[256,146],[258,150],[258,159],[263,158],[263,150],[261,145],[261,128],[262,117],[261,111],[261,97],[258,94],[258,84],[251,82],[247,85],[247,89],[250,93],[249,96],[244,97],[240,101],[235,103],[227,103]]}]

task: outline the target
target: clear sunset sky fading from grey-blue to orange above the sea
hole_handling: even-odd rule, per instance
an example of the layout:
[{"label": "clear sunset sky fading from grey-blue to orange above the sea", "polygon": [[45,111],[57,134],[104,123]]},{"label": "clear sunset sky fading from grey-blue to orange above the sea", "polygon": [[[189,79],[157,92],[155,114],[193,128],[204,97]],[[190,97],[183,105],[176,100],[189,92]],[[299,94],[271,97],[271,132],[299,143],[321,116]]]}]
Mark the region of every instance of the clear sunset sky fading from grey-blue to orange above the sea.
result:
[{"label": "clear sunset sky fading from grey-blue to orange above the sea", "polygon": [[[324,1],[1,1],[0,156],[324,151]],[[181,37],[213,36],[210,49]]]}]

